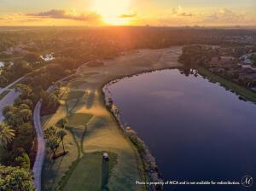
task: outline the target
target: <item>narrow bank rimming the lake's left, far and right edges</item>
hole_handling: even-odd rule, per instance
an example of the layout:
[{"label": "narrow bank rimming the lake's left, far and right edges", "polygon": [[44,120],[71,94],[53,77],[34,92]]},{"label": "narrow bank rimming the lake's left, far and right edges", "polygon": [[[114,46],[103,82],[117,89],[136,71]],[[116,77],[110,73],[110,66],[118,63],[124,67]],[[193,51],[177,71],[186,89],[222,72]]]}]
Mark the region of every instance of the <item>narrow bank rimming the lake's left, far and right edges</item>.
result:
[{"label": "narrow bank rimming the lake's left, far and right edges", "polygon": [[[146,70],[146,71],[143,71],[143,72],[135,72],[135,73],[130,74],[130,75],[125,75],[124,77],[121,77],[121,78],[116,78],[116,79],[109,80],[106,84],[102,85],[102,95],[104,96],[105,106],[108,109],[108,112],[113,115],[113,118],[116,120],[117,124],[119,125],[119,129],[123,132],[124,136],[127,136],[130,139],[131,143],[135,146],[135,148],[137,148],[137,152],[139,153],[139,157],[143,162],[143,173],[144,173],[145,176],[147,176],[146,180],[145,180],[146,182],[162,182],[163,177],[161,175],[160,168],[157,165],[153,154],[150,152],[150,149],[145,144],[145,142],[143,142],[143,140],[139,136],[137,136],[136,131],[133,130],[132,127],[129,126],[129,124],[123,124],[122,123],[121,113],[120,113],[119,107],[117,107],[114,104],[111,92],[110,92],[110,90],[108,90],[108,86],[111,85],[111,84],[118,83],[122,79],[136,77],[136,76],[142,75],[144,73],[157,72],[157,71],[163,71],[163,70],[171,70],[171,69],[178,69],[178,68],[183,68],[183,66],[181,66],[181,67],[163,67],[163,68],[153,69],[153,70],[148,70],[148,71]],[[207,69],[205,69],[205,68],[198,68],[198,67],[195,68],[195,70],[203,78],[208,78],[210,80],[212,79],[214,82],[217,82],[220,86],[223,86],[226,90],[229,90],[232,93],[235,93],[236,96],[238,96],[239,99],[246,98],[245,101],[251,101],[253,104],[256,104],[256,98],[255,98],[255,100],[250,99],[247,96],[241,94],[241,92],[239,90],[237,90],[237,89],[233,90],[233,88],[230,87],[230,85],[228,85],[228,84],[235,84],[235,83],[233,83],[230,80],[227,80],[223,77],[219,77],[218,75],[216,75],[216,74],[214,74],[210,71],[207,71],[207,72],[202,71],[203,69],[207,71]],[[207,75],[207,73],[210,73],[211,75]],[[223,80],[224,80],[224,82],[223,82]],[[225,82],[227,82],[228,84],[226,84]],[[242,87],[239,84],[235,84],[235,86],[237,86],[238,88],[241,88],[241,89],[245,89],[244,87]],[[250,90],[247,90],[247,91],[250,91]],[[140,152],[140,149],[141,149],[140,147],[143,147],[143,150],[144,150],[145,153]],[[149,160],[148,160],[148,156],[149,156]],[[150,171],[148,171],[148,169],[145,169],[145,166],[149,166],[148,169]],[[153,171],[152,171],[152,169],[153,169]],[[150,185],[150,186],[148,185],[148,190],[150,190],[150,191],[163,190],[163,188],[162,187],[155,188],[154,185]]]}]

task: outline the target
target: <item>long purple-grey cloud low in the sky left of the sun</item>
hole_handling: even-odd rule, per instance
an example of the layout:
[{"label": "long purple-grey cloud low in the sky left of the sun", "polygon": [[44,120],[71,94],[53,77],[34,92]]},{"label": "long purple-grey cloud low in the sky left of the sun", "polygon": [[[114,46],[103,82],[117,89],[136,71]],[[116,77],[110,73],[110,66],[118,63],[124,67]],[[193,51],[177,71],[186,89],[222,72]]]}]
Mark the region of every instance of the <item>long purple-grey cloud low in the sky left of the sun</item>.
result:
[{"label": "long purple-grey cloud low in the sky left of the sun", "polygon": [[76,14],[75,11],[67,12],[63,9],[51,9],[49,11],[44,11],[36,14],[26,14],[26,16],[51,19],[81,20],[86,22],[96,22],[101,20],[102,18],[101,15],[96,13]]}]

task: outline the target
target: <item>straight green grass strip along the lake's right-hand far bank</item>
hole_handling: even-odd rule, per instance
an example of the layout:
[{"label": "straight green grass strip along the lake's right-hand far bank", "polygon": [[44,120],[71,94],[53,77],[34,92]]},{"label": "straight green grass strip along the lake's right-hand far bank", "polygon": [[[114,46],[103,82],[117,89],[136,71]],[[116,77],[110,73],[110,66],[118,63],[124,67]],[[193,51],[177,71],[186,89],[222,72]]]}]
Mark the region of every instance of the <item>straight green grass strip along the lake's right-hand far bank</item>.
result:
[{"label": "straight green grass strip along the lake's right-hand far bank", "polygon": [[222,78],[222,77],[208,71],[207,69],[205,69],[203,67],[196,67],[196,69],[202,76],[206,76],[208,78],[211,78],[214,81],[217,81],[224,87],[235,91],[238,95],[246,98],[249,101],[256,102],[256,93],[253,92],[252,90],[248,90],[247,88],[242,87],[239,84],[233,83],[230,80]]}]

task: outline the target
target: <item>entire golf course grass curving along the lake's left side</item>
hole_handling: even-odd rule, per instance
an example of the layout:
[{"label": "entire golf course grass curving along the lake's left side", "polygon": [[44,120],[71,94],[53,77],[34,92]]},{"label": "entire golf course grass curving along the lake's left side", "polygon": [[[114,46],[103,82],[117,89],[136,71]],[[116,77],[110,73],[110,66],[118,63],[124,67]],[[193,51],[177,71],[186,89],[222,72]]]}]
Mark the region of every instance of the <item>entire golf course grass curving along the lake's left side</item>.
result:
[{"label": "entire golf course grass curving along the lake's left side", "polygon": [[[175,58],[168,55],[170,61],[166,61],[164,53],[170,49],[177,51],[177,55],[181,53],[181,47],[140,50],[142,54],[117,57],[103,65],[98,64],[98,67],[88,67],[85,64],[77,70],[74,80],[83,84],[68,83],[69,92],[61,97],[61,106],[55,114],[49,116],[49,122],[46,123],[49,127],[59,119],[68,119],[68,135],[64,140],[68,153],[55,161],[49,157],[44,160],[44,191],[146,190],[146,187],[134,183],[136,180],[145,180],[143,161],[136,145],[125,136],[106,108],[102,87],[113,79],[180,66],[173,61],[177,55]],[[161,63],[162,56],[165,57],[164,63]],[[103,152],[110,156],[108,168],[104,169]]]}]

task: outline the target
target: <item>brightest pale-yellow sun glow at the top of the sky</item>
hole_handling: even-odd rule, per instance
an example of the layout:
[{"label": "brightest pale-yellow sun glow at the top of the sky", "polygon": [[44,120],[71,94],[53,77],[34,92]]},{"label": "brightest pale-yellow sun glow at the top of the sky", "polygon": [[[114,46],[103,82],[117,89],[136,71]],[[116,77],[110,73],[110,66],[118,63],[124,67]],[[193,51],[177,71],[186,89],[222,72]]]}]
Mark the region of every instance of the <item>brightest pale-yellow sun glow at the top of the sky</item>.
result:
[{"label": "brightest pale-yellow sun glow at the top of the sky", "polygon": [[129,19],[121,18],[129,12],[131,0],[94,0],[93,9],[102,19],[111,25],[127,25]]}]

